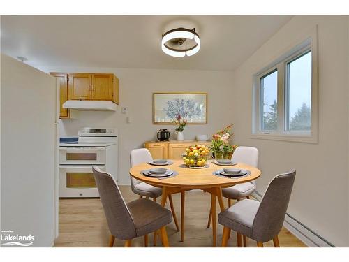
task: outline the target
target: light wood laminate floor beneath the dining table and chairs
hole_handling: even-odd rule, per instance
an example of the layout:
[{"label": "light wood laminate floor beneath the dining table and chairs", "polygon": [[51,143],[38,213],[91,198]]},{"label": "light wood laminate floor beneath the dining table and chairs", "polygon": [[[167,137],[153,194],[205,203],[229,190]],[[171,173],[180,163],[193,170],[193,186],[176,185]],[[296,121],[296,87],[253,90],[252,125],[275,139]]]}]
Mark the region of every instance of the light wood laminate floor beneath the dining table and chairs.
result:
[{"label": "light wood laminate floor beneath the dining table and chairs", "polygon": [[[129,186],[120,186],[125,201],[133,201],[138,198],[133,194]],[[180,224],[180,194],[172,195],[177,219]],[[161,199],[158,199],[160,202]],[[170,247],[211,247],[212,230],[206,228],[209,215],[211,196],[202,191],[186,192],[185,211],[185,237],[180,242],[181,233],[177,232],[172,222],[167,226]],[[228,201],[225,198],[225,206]],[[168,207],[168,204],[166,204]],[[219,205],[217,204],[217,214]],[[169,207],[168,207],[169,208]],[[223,226],[217,222],[217,243],[221,245]],[[55,247],[107,247],[109,230],[99,198],[61,198],[59,200],[59,237],[55,241]],[[279,234],[281,247],[305,247],[290,231],[283,228]],[[135,238],[132,247],[143,247],[144,238]],[[256,247],[256,242],[248,239],[248,247]],[[115,240],[114,247],[123,247],[123,240]],[[158,238],[158,247],[161,240]],[[153,234],[149,235],[149,247],[153,247]],[[237,247],[236,234],[232,231],[228,247]],[[273,242],[265,243],[265,247],[273,247]]]}]

